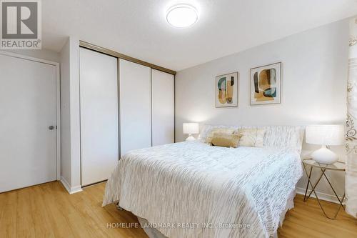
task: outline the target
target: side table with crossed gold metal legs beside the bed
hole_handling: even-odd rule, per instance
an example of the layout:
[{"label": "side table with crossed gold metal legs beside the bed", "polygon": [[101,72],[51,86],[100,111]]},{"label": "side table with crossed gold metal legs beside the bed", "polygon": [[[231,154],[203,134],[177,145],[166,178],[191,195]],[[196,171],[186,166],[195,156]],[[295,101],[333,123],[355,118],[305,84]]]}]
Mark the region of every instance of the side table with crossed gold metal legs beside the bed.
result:
[{"label": "side table with crossed gold metal legs beside the bed", "polygon": [[[308,169],[306,167],[310,167],[310,171],[308,172]],[[315,184],[313,184],[311,182],[311,174],[313,172],[313,168],[316,168],[318,170],[321,171],[320,177],[318,177],[318,180]],[[315,194],[315,197],[317,199],[318,204],[321,207],[321,210],[323,212],[323,214],[325,215],[325,217],[327,217],[328,219],[336,219],[338,212],[340,211],[341,207],[343,207],[343,200],[345,199],[345,195],[343,194],[342,199],[340,199],[340,197],[338,197],[335,189],[333,188],[330,180],[328,179],[328,177],[326,176],[325,172],[327,170],[331,170],[331,171],[339,171],[339,172],[345,172],[346,171],[346,164],[343,162],[336,162],[334,164],[320,164],[316,161],[314,161],[313,159],[303,159],[303,169],[306,172],[306,176],[308,177],[308,184],[306,185],[306,191],[305,191],[305,196],[303,197],[303,202],[306,202],[308,200],[308,198],[311,196],[311,194]],[[333,193],[335,194],[336,198],[338,199],[339,205],[338,205],[338,209],[336,210],[336,213],[334,214],[333,217],[329,217],[325,210],[323,209],[320,199],[318,199],[318,196],[316,194],[315,188],[318,185],[318,183],[321,181],[322,177],[325,177],[325,179],[327,180],[328,184],[330,185],[331,189],[333,190]],[[309,185],[311,186],[311,192],[308,194],[308,187]],[[308,194],[308,195],[307,195]],[[345,209],[345,207],[343,207],[343,209]]]}]

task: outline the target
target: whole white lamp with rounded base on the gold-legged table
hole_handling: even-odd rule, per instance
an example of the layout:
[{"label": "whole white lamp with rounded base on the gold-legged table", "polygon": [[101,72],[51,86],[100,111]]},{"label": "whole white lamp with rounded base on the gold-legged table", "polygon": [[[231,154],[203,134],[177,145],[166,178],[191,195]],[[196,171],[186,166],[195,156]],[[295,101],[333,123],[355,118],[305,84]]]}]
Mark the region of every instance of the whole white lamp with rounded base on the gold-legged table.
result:
[{"label": "whole white lamp with rounded base on the gold-legged table", "polygon": [[321,148],[311,154],[313,160],[321,164],[333,164],[338,161],[338,156],[328,147],[341,145],[345,142],[345,127],[336,125],[313,125],[306,127],[306,143],[320,144]]}]

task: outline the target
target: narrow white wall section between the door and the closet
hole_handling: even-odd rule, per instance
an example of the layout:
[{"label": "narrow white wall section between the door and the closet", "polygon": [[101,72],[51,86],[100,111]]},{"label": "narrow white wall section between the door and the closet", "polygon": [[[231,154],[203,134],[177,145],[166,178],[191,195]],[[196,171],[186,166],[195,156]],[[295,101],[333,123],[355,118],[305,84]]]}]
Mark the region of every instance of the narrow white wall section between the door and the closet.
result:
[{"label": "narrow white wall section between the door and the closet", "polygon": [[69,193],[81,191],[79,40],[70,36],[61,58],[61,181]]}]

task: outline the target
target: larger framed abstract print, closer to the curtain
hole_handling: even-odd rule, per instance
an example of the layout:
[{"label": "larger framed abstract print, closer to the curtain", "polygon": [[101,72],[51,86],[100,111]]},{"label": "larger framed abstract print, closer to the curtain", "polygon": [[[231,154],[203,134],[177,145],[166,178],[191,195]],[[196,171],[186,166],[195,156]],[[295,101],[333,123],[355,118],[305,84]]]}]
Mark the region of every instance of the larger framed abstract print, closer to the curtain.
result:
[{"label": "larger framed abstract print, closer to the curtain", "polygon": [[281,62],[251,69],[251,105],[281,103]]}]

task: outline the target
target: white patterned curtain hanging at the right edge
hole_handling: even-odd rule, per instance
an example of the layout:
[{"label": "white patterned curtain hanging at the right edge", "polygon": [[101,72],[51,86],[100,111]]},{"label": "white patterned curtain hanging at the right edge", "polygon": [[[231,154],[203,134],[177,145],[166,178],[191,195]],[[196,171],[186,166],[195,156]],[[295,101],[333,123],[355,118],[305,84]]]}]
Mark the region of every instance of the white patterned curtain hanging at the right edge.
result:
[{"label": "white patterned curtain hanging at the right edge", "polygon": [[357,217],[357,17],[350,21],[347,85],[346,212]]}]

